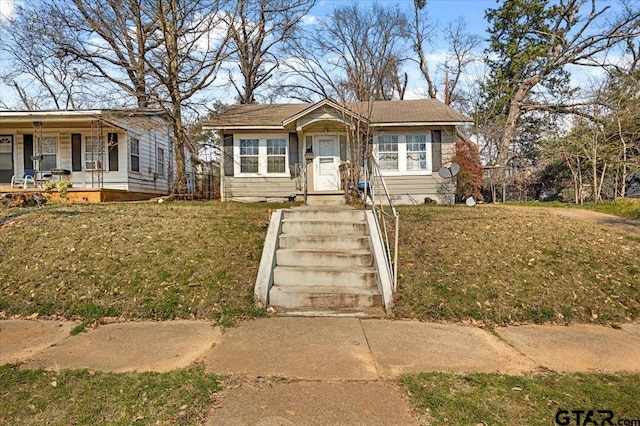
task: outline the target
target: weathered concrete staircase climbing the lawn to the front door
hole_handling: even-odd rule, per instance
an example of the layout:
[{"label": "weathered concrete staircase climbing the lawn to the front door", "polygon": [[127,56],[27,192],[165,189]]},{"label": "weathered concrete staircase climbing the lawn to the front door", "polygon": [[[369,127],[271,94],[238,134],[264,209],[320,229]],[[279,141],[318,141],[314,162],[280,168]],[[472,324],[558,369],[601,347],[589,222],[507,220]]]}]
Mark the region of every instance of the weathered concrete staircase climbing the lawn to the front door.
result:
[{"label": "weathered concrete staircase climbing the lawn to the front door", "polygon": [[280,314],[384,316],[365,212],[283,212],[269,304]]}]

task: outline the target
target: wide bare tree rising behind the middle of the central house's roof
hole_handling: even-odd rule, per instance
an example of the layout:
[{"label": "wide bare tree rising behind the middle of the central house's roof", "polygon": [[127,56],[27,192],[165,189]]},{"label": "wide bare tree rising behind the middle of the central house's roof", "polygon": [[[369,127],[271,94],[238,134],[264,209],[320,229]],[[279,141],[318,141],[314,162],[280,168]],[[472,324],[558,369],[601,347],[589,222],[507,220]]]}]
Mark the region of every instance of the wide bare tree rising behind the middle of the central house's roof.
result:
[{"label": "wide bare tree rising behind the middle of the central house's roof", "polygon": [[406,77],[399,77],[406,27],[397,7],[334,9],[314,33],[299,32],[291,40],[287,67],[299,80],[292,86],[341,101],[392,99],[406,86]]}]

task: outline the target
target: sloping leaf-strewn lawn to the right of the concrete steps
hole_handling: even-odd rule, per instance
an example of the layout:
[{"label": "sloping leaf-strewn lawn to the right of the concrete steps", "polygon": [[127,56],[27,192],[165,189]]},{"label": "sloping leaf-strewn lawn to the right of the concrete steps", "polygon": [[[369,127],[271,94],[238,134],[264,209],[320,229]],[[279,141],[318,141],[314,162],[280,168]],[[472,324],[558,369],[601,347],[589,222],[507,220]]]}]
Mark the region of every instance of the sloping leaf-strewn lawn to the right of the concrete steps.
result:
[{"label": "sloping leaf-strewn lawn to the right of the concrete steps", "polygon": [[640,238],[535,209],[399,208],[394,315],[486,324],[640,318]]}]

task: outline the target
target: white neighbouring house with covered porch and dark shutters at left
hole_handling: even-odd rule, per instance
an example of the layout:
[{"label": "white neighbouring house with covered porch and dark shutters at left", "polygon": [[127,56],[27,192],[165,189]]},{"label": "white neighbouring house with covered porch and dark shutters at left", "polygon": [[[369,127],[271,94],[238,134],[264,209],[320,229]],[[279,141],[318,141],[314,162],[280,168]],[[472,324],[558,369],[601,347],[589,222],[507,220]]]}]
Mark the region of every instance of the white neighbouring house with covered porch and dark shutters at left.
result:
[{"label": "white neighbouring house with covered porch and dark shutters at left", "polygon": [[36,186],[72,182],[70,199],[166,195],[174,168],[171,138],[160,110],[0,111],[0,186],[33,169]]}]

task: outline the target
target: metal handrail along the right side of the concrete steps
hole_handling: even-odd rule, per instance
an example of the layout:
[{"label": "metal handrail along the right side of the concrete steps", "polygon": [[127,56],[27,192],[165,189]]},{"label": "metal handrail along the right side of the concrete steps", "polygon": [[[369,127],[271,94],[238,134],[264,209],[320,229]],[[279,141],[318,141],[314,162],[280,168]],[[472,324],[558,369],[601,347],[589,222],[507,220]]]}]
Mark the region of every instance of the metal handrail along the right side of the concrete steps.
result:
[{"label": "metal handrail along the right side of the concrete steps", "polygon": [[398,231],[400,218],[387,184],[380,173],[375,158],[370,157],[368,167],[364,167],[364,201],[373,211],[380,242],[385,249],[385,261],[393,291],[398,288]]}]

